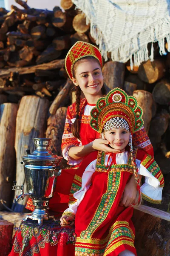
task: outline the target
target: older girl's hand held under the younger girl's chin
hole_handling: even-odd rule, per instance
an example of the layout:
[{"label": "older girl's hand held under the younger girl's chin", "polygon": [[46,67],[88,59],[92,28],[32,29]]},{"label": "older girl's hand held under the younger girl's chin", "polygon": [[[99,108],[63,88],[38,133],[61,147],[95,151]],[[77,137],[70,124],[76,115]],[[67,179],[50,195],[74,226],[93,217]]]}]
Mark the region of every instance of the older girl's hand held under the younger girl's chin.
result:
[{"label": "older girl's hand held under the younger girl's chin", "polygon": [[96,139],[96,140],[92,141],[91,144],[92,144],[93,149],[104,151],[107,153],[119,153],[119,152],[125,151],[125,149],[119,150],[119,149],[114,149],[114,148],[108,147],[108,145],[110,144],[108,140]]}]

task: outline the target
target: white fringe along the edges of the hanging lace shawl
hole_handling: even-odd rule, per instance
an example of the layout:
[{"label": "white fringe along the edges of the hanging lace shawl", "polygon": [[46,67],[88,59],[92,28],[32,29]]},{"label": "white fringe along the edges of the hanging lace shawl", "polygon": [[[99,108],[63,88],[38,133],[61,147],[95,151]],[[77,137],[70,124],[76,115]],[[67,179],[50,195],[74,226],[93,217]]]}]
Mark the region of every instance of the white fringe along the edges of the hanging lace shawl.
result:
[{"label": "white fringe along the edges of the hanging lace shawl", "polygon": [[[74,4],[77,4],[77,0],[72,0]],[[82,3],[83,2],[83,3]],[[108,60],[107,52],[108,46],[105,44],[105,39],[102,34],[102,31],[99,30],[97,24],[93,23],[93,16],[91,13],[88,12],[86,8],[86,1],[81,0],[81,8],[80,6],[77,6],[77,9],[80,9],[86,17],[86,24],[90,23],[90,33],[91,36],[95,39],[96,44],[99,46],[99,50],[102,53],[103,58],[105,61]],[[170,30],[167,31],[165,34],[162,35],[162,24],[168,24],[170,25],[170,16],[164,17],[161,20],[157,20],[154,22],[153,25],[149,26],[150,35],[147,35],[147,38],[152,38],[151,41],[147,41],[142,46],[139,46],[138,38],[139,35],[143,32],[140,32],[138,36],[133,37],[131,40],[125,42],[124,44],[120,45],[113,51],[111,51],[111,59],[112,61],[119,61],[119,62],[127,62],[130,59],[130,67],[133,69],[134,66],[139,66],[143,61],[147,61],[150,59],[150,61],[153,61],[153,43],[158,42],[159,44],[159,52],[160,55],[166,54],[165,51],[165,39],[168,44],[168,52],[170,52]],[[135,42],[135,43],[134,43]],[[149,56],[149,51],[147,48],[148,43],[151,43],[151,52]],[[132,48],[134,49],[132,52]],[[128,57],[127,57],[128,56]]]}]

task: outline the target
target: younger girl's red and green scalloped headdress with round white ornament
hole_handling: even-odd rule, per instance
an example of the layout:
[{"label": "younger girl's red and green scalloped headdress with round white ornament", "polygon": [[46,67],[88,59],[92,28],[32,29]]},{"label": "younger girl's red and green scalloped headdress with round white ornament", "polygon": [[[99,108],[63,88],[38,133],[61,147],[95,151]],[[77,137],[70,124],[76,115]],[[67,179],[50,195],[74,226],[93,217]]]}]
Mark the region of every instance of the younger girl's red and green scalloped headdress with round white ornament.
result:
[{"label": "younger girl's red and green scalloped headdress with round white ornament", "polygon": [[143,126],[142,108],[133,96],[128,96],[124,90],[114,88],[105,97],[96,102],[96,107],[91,110],[91,127],[102,133],[105,123],[114,117],[124,118],[133,134]]}]

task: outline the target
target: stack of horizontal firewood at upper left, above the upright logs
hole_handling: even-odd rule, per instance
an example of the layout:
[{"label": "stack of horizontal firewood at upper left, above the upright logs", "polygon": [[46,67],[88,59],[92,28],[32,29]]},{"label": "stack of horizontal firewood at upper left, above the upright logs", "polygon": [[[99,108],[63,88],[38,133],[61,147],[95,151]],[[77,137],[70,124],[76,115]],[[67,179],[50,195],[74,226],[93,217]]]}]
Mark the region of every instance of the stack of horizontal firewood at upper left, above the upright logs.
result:
[{"label": "stack of horizontal firewood at upper left, above the upright logs", "polygon": [[28,94],[52,101],[66,82],[68,49],[78,40],[93,41],[89,25],[71,0],[61,1],[65,12],[58,6],[48,11],[15,2],[24,9],[0,8],[0,93],[15,103]]}]

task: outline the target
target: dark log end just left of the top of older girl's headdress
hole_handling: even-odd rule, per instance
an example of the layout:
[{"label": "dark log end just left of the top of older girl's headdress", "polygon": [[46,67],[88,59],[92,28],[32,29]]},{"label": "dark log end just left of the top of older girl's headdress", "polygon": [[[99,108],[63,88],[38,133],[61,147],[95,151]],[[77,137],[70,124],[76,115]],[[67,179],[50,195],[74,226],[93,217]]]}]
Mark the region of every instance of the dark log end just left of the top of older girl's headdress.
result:
[{"label": "dark log end just left of the top of older girl's headdress", "polygon": [[70,35],[58,36],[57,38],[54,38],[52,44],[58,51],[69,49],[71,47]]}]

